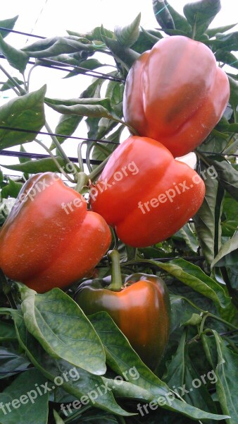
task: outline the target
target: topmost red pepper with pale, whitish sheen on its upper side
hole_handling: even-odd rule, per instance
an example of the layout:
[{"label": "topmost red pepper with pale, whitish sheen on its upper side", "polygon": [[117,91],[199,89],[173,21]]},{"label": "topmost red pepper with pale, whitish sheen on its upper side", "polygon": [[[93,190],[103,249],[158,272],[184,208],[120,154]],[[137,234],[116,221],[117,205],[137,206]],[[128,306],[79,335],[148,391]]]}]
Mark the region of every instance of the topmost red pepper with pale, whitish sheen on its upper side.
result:
[{"label": "topmost red pepper with pale, whitish sheen on its upper side", "polygon": [[156,42],[132,65],[123,98],[125,122],[182,156],[206,139],[229,95],[227,75],[211,49],[175,35]]}]

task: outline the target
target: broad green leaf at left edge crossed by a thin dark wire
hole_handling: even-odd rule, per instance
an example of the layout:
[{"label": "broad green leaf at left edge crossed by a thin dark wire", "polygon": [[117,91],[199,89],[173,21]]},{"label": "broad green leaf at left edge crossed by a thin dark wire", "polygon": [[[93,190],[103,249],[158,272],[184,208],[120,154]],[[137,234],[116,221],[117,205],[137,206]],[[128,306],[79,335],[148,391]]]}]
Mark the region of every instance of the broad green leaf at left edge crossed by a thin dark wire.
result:
[{"label": "broad green leaf at left edge crossed by a thin dark wire", "polygon": [[34,133],[1,129],[1,126],[10,128],[40,131],[45,123],[44,95],[46,86],[37,91],[14,98],[0,107],[0,148],[17,146],[18,144],[33,141]]}]

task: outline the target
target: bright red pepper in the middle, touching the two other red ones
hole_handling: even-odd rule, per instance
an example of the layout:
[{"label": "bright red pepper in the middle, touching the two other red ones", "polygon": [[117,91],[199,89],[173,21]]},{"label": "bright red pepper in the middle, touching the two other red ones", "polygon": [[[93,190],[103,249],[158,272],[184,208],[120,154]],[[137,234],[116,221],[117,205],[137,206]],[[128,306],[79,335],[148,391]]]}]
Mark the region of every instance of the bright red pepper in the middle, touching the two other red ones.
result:
[{"label": "bright red pepper in the middle, touching the two other red ones", "polygon": [[[132,163],[138,171],[134,175],[128,171]],[[123,178],[116,180],[120,175]],[[126,245],[146,247],[182,228],[198,211],[204,194],[199,175],[175,160],[163,144],[132,136],[109,158],[90,202]]]}]

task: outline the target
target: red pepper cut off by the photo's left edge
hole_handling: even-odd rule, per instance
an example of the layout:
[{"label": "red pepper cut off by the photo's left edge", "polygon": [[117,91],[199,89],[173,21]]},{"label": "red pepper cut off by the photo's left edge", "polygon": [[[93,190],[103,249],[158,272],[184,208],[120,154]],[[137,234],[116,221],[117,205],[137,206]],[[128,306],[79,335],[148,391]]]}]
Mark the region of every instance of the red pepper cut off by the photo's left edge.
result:
[{"label": "red pepper cut off by the photo's left edge", "polygon": [[87,211],[79,193],[53,172],[37,174],[24,184],[0,230],[0,268],[44,293],[85,276],[110,243],[104,218]]}]

